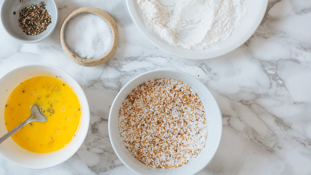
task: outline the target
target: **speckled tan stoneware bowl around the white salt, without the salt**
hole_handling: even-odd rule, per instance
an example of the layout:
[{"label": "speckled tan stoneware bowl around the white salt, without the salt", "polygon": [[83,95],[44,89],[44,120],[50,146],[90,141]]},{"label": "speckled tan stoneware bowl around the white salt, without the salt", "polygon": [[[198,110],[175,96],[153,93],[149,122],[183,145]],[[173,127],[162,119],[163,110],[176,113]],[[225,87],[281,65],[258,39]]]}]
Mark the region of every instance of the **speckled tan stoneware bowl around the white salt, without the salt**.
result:
[{"label": "speckled tan stoneware bowl around the white salt, without the salt", "polygon": [[[64,39],[64,31],[65,31],[65,27],[66,27],[67,22],[71,18],[77,16],[78,14],[85,13],[85,12],[86,13],[93,13],[93,14],[103,18],[108,23],[108,25],[110,26],[110,29],[112,32],[111,47],[108,50],[108,52],[100,58],[85,59],[85,58],[78,57],[77,55],[72,53],[72,51],[67,47],[65,39]],[[95,7],[81,7],[81,8],[78,8],[77,10],[74,10],[72,13],[70,13],[67,16],[67,18],[65,19],[65,21],[63,22],[63,25],[62,25],[61,30],[60,30],[60,41],[61,41],[63,50],[65,51],[66,55],[73,62],[75,62],[81,66],[97,66],[97,65],[100,65],[100,64],[108,61],[109,58],[114,54],[114,52],[118,46],[118,42],[119,42],[119,32],[118,32],[118,27],[117,27],[116,23],[114,22],[114,19],[107,12],[105,12],[99,8],[95,8]]]}]

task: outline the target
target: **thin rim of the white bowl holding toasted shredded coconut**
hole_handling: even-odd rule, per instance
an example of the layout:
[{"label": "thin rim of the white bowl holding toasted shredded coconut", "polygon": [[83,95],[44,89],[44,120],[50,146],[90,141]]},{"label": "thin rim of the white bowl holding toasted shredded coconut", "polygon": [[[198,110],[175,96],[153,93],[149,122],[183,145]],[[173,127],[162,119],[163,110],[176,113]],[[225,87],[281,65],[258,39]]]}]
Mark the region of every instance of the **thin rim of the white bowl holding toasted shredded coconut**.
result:
[{"label": "thin rim of the white bowl holding toasted shredded coconut", "polygon": [[[182,73],[182,74],[185,74],[185,75],[188,75],[188,76],[191,76],[193,79],[195,79],[195,81],[197,81],[197,83],[201,84],[201,85],[204,85],[201,81],[199,81],[197,78],[195,78],[194,76],[186,73],[186,72],[183,72],[183,71],[179,71],[179,70],[174,70],[174,69],[166,69],[166,68],[163,68],[163,69],[157,69],[157,70],[151,70],[151,71],[147,71],[147,72],[144,72],[142,74],[139,74],[138,76],[135,76],[134,78],[132,78],[130,81],[128,81],[128,83],[126,83],[122,88],[121,90],[118,92],[118,94],[116,95],[113,103],[111,104],[111,108],[110,108],[110,111],[109,111],[109,118],[108,118],[108,132],[109,132],[109,139],[110,139],[110,142],[111,142],[111,145],[114,149],[114,152],[116,153],[116,155],[118,156],[118,158],[121,160],[121,162],[127,167],[129,168],[130,170],[132,170],[134,173],[137,173],[137,174],[142,174],[138,171],[136,171],[135,168],[133,168],[132,166],[130,166],[126,160],[123,159],[123,157],[119,154],[119,152],[116,150],[116,146],[115,146],[115,140],[112,138],[112,122],[111,122],[111,118],[112,118],[112,110],[113,110],[113,107],[116,105],[116,100],[119,98],[119,96],[121,95],[121,92],[123,90],[125,90],[127,88],[128,85],[130,85],[133,81],[135,81],[136,79],[142,77],[142,76],[145,76],[147,74],[152,74],[152,73],[155,73],[155,72],[162,72],[162,71],[166,71],[166,72],[169,72],[171,74],[174,74],[176,72],[178,73]],[[184,82],[183,82],[184,83]],[[138,85],[139,86],[139,85]],[[204,85],[204,87],[206,88],[206,90],[211,94],[210,90],[206,87],[206,85]],[[217,123],[217,125],[220,126],[220,130],[219,130],[219,136],[217,137],[217,144],[216,144],[216,147],[215,147],[215,150],[213,150],[213,154],[211,156],[211,158],[204,164],[204,167],[207,166],[208,163],[210,163],[211,159],[215,156],[216,154],[216,151],[218,150],[218,147],[219,147],[219,144],[220,144],[220,140],[221,140],[221,135],[222,135],[222,118],[221,118],[221,111],[220,111],[220,108],[219,108],[219,105],[215,99],[215,97],[211,94],[211,97],[213,99],[213,101],[215,101],[216,105],[217,105],[217,108],[214,109],[216,111],[217,114],[220,115],[220,118],[218,120],[219,123]],[[147,165],[146,165],[147,166]],[[203,168],[204,168],[203,167]],[[192,173],[195,174],[199,171],[201,171],[202,169],[198,169],[197,171],[193,171]]]}]

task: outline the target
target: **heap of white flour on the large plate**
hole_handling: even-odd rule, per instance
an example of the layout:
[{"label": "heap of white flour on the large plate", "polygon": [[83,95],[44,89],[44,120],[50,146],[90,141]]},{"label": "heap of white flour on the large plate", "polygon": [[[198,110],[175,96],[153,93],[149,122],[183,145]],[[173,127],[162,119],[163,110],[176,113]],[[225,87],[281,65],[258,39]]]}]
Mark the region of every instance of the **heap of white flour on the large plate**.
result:
[{"label": "heap of white flour on the large plate", "polygon": [[204,49],[228,39],[244,0],[137,0],[147,30],[171,46]]}]

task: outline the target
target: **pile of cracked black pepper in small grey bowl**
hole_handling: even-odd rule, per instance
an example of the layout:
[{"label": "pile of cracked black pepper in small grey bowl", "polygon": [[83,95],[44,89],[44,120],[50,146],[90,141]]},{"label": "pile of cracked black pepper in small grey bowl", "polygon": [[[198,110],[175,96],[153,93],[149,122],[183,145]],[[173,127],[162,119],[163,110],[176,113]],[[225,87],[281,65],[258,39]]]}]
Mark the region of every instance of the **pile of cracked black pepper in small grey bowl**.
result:
[{"label": "pile of cracked black pepper in small grey bowl", "polygon": [[20,11],[19,26],[27,35],[39,35],[52,23],[51,15],[45,8],[45,3],[24,7]]}]

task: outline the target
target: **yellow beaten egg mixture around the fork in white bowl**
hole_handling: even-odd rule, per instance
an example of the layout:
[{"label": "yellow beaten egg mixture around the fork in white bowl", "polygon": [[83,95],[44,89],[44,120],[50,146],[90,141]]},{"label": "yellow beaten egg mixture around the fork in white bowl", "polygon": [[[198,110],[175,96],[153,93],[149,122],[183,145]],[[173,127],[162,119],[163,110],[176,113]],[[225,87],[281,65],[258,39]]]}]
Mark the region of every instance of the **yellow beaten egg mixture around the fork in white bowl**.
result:
[{"label": "yellow beaten egg mixture around the fork in white bowl", "polygon": [[62,149],[75,136],[81,121],[77,95],[63,81],[37,76],[23,81],[10,94],[4,110],[4,121],[10,131],[30,116],[37,104],[46,122],[31,122],[12,139],[22,148],[35,153],[51,153]]}]

